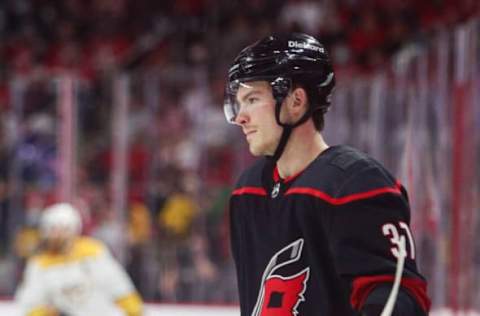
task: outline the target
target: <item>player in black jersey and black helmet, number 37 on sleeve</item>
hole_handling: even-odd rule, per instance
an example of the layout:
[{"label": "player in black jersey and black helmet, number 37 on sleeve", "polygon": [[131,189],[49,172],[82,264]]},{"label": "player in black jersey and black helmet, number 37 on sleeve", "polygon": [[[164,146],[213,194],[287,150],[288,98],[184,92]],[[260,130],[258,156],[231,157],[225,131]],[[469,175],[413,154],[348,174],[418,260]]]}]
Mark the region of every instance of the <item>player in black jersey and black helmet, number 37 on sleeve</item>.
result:
[{"label": "player in black jersey and black helmet, number 37 on sleeve", "polygon": [[260,156],[230,200],[242,316],[380,315],[401,240],[393,315],[428,314],[405,189],[374,159],[322,137],[334,85],[325,48],[306,34],[268,36],[229,69],[225,115]]}]

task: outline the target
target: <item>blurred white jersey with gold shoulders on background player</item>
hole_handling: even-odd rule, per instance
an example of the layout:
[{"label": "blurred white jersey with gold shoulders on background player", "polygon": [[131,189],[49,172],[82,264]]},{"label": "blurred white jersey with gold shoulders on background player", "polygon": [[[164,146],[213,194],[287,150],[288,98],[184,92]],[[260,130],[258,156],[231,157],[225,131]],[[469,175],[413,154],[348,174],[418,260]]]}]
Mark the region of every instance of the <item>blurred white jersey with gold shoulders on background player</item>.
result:
[{"label": "blurred white jersey with gold shoulders on background player", "polygon": [[141,315],[130,278],[99,241],[79,237],[68,254],[27,262],[15,295],[23,315]]}]

